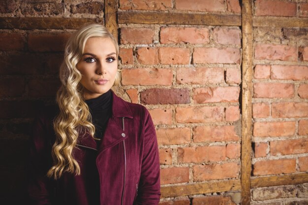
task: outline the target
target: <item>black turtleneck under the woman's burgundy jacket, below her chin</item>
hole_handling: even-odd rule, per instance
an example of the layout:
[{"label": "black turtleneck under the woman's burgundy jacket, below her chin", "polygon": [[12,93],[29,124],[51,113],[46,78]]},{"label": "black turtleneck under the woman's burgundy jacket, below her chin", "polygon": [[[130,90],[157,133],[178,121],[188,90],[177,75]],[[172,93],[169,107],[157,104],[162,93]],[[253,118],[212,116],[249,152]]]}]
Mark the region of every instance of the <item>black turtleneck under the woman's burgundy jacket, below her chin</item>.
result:
[{"label": "black turtleneck under the woman's burgundy jacket, below her chin", "polygon": [[89,106],[92,123],[95,126],[94,138],[101,139],[112,114],[112,93],[108,90],[97,98],[85,100]]}]

